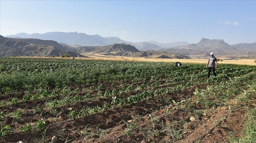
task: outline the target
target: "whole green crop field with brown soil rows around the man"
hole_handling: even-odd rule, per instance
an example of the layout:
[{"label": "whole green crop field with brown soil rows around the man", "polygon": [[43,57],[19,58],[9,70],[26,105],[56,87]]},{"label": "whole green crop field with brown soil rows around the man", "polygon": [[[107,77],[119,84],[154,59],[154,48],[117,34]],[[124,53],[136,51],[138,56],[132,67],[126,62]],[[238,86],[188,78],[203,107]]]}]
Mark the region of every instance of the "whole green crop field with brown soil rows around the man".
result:
[{"label": "whole green crop field with brown soil rows around the man", "polygon": [[256,66],[0,58],[0,142],[256,142]]}]

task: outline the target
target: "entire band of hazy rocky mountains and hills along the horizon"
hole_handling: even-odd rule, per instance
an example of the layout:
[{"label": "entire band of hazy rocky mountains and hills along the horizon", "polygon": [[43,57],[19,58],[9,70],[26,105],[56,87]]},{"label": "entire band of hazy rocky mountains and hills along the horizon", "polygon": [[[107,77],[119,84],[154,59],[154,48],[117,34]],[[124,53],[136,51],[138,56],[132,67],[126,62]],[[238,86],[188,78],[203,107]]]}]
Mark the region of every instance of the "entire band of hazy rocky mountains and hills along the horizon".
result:
[{"label": "entire band of hazy rocky mountains and hills along the horizon", "polygon": [[[188,42],[171,42],[171,43],[158,43],[156,41],[147,41],[147,42],[127,42],[121,40],[118,37],[105,37],[103,38],[100,35],[87,35],[85,33],[77,32],[48,32],[45,34],[26,34],[19,33],[16,35],[9,35],[8,37],[16,41],[23,41],[26,43],[33,43],[36,45],[46,46],[50,45],[56,49],[69,52],[77,53],[100,53],[105,55],[122,55],[122,56],[136,56],[143,57],[149,56],[148,53],[150,50],[154,50],[154,54],[159,54],[168,58],[168,55],[164,54],[170,52],[170,58],[173,58],[174,55],[183,59],[187,58],[207,58],[209,53],[214,52],[215,56],[221,59],[256,59],[256,43],[239,43],[236,45],[228,45],[224,40],[219,39],[206,39],[202,38],[198,43],[189,44]],[[37,38],[37,39],[34,39]],[[48,40],[41,40],[48,39]],[[31,41],[32,40],[32,41]],[[58,41],[55,41],[58,40]],[[59,42],[60,41],[60,42]],[[23,42],[15,43],[17,45],[23,45]],[[61,43],[61,45],[59,43]],[[115,45],[118,44],[118,45]],[[83,46],[86,45],[86,46]],[[130,47],[133,50],[127,50],[126,47]],[[15,47],[15,45],[13,45]],[[112,47],[111,47],[112,46]],[[116,47],[117,46],[117,47]],[[134,47],[134,48],[131,48]],[[1,51],[2,50],[1,46]],[[111,48],[110,48],[111,47]],[[140,48],[137,48],[140,47]],[[110,49],[109,49],[110,48]],[[14,50],[14,49],[12,49]],[[140,52],[139,52],[140,51]],[[142,52],[144,51],[144,53]],[[175,54],[172,54],[175,53]],[[2,54],[2,52],[1,52]],[[9,55],[10,56],[10,55]],[[152,55],[151,55],[152,56]]]}]

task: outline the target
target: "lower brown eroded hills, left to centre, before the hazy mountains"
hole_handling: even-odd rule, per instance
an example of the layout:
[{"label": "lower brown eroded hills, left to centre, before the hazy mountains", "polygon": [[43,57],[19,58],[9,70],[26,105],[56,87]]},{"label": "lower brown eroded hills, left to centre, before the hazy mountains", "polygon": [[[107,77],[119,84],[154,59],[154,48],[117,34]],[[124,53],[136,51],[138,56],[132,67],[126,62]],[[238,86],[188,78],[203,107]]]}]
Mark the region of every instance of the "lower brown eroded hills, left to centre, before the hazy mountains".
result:
[{"label": "lower brown eroded hills, left to centre, before the hazy mountains", "polygon": [[62,56],[86,57],[86,54],[100,54],[108,56],[130,56],[130,57],[154,57],[190,59],[188,56],[172,52],[157,52],[153,50],[140,51],[134,46],[119,43],[108,46],[69,46],[65,43],[57,43],[53,40],[5,38],[0,35],[0,56]]}]

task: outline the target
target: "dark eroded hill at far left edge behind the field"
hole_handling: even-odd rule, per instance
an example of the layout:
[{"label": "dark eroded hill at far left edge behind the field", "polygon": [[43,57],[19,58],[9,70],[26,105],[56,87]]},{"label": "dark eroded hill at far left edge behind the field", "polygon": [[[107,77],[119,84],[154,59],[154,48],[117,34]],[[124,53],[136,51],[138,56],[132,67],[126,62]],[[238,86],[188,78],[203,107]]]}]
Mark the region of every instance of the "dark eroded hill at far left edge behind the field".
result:
[{"label": "dark eroded hill at far left edge behind the field", "polygon": [[[42,45],[38,45],[38,44],[42,44]],[[0,35],[0,47],[1,47],[0,48],[1,57],[61,56],[66,54],[69,54],[70,56],[75,56],[75,57],[85,57],[79,53],[67,51],[66,48],[63,48],[56,41],[49,41],[49,40],[10,39]]]}]

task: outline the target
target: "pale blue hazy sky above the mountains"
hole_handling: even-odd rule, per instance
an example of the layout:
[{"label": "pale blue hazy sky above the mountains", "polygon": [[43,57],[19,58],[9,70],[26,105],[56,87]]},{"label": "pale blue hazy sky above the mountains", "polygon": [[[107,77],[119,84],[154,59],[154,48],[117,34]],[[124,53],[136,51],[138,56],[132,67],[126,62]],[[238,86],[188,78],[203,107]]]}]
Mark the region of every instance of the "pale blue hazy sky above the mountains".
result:
[{"label": "pale blue hazy sky above the mountains", "polygon": [[0,0],[0,35],[78,32],[129,42],[256,42],[256,1]]}]

